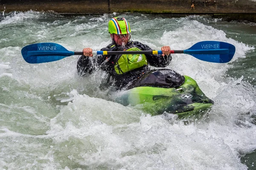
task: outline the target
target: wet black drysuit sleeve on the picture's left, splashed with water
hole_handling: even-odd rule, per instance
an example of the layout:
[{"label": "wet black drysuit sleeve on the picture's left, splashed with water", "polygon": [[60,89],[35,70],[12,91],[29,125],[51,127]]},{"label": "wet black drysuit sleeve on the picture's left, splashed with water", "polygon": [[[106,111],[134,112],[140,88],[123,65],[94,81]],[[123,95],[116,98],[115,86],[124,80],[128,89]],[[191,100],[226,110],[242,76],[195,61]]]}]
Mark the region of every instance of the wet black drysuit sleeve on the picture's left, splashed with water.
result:
[{"label": "wet black drysuit sleeve on the picture's left, splashed with water", "polygon": [[[108,48],[102,48],[101,51],[108,51]],[[106,58],[106,55],[96,55],[93,57],[80,56],[76,66],[78,74],[81,76],[91,74],[94,70],[99,68]]]}]

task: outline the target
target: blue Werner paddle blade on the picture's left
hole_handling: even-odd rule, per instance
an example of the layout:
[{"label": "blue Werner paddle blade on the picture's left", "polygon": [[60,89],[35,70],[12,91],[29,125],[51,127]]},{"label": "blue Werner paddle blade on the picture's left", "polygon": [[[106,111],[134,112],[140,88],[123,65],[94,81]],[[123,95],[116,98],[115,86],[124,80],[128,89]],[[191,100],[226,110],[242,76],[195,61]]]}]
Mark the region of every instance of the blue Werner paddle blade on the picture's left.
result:
[{"label": "blue Werner paddle blade on the picture's left", "polygon": [[74,55],[74,51],[68,51],[66,48],[56,43],[43,42],[23,47],[21,54],[26,62],[37,64],[63,59]]}]

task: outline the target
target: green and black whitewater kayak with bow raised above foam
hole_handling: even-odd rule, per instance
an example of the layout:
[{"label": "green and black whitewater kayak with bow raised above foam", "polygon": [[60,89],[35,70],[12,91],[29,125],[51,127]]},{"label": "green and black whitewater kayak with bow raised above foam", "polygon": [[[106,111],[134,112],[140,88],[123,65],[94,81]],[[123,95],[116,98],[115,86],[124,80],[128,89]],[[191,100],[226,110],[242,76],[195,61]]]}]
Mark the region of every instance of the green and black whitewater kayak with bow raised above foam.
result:
[{"label": "green and black whitewater kayak with bow raised above foam", "polygon": [[180,119],[202,115],[212,107],[214,102],[201,91],[197,82],[191,77],[182,76],[184,80],[181,85],[173,87],[175,85],[172,83],[168,86],[159,83],[159,79],[162,82],[166,81],[166,77],[170,74],[172,79],[176,79],[177,73],[169,69],[160,69],[146,75],[143,82],[152,79],[152,74],[157,79],[154,81],[157,82],[155,85],[144,83],[139,87],[123,91],[116,98],[116,102],[125,106],[134,106],[152,116],[166,112],[177,114]]}]

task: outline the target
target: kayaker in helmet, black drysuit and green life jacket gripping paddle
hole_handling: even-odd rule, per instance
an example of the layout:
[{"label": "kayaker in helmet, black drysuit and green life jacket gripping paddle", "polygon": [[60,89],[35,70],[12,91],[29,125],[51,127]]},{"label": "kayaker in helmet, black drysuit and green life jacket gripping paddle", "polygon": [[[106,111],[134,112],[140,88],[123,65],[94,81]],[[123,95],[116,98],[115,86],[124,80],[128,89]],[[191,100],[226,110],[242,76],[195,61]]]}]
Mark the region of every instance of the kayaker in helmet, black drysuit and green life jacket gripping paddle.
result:
[{"label": "kayaker in helmet, black drysuit and green life jacket gripping paddle", "polygon": [[[108,22],[111,44],[101,51],[152,51],[148,45],[131,40],[131,29],[124,17],[114,17]],[[117,89],[128,88],[133,82],[150,71],[148,65],[166,67],[172,60],[170,47],[163,46],[163,54],[123,54],[97,55],[93,57],[92,48],[84,48],[77,62],[79,75],[91,74],[96,68],[108,72],[108,82]],[[113,81],[112,81],[113,80]],[[130,86],[131,87],[131,86]]]}]

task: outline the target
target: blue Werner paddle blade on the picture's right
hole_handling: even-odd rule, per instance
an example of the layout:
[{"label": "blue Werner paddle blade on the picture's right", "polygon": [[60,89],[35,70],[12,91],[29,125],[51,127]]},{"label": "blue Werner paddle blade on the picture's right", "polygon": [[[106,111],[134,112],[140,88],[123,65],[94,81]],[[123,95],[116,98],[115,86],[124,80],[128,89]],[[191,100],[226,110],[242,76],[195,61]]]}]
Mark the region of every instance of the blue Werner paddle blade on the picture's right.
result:
[{"label": "blue Werner paddle blade on the picture's right", "polygon": [[190,54],[197,59],[218,63],[229,62],[235,52],[234,45],[220,41],[202,41],[184,50],[184,54]]}]

